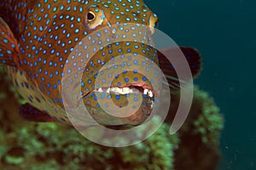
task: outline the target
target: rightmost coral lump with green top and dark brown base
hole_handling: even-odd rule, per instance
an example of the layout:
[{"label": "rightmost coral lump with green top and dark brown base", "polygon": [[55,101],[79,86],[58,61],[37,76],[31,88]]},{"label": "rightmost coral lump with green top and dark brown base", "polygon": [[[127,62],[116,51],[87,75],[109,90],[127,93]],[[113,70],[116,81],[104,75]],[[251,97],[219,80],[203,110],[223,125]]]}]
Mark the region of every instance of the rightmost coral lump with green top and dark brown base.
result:
[{"label": "rightmost coral lump with green top and dark brown base", "polygon": [[[172,102],[175,104],[178,99],[178,95],[173,96]],[[171,112],[176,110],[177,105],[172,105]],[[172,119],[171,115],[167,122]],[[218,141],[223,127],[224,117],[219,114],[213,99],[195,87],[189,116],[178,132],[181,142],[175,151],[176,169],[216,169],[220,158]]]}]

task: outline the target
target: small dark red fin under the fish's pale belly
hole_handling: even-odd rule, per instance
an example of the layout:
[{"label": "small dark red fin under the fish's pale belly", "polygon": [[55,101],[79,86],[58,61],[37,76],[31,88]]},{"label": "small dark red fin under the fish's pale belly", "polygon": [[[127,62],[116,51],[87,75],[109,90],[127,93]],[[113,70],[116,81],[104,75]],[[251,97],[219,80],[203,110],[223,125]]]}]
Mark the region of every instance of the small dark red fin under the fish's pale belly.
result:
[{"label": "small dark red fin under the fish's pale belly", "polygon": [[20,116],[30,122],[57,122],[47,112],[39,111],[28,103],[20,106]]}]

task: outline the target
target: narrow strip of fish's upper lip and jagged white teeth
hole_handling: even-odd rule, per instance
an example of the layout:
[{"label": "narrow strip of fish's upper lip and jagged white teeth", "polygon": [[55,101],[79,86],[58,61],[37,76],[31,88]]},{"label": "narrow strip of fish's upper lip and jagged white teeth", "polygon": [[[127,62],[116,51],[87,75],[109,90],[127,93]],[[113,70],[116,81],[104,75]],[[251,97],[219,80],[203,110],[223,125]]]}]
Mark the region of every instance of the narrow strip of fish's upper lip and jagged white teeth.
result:
[{"label": "narrow strip of fish's upper lip and jagged white teeth", "polygon": [[[137,89],[141,94],[143,93],[148,93],[149,97],[154,97],[157,93],[154,91],[154,89],[152,87],[150,87],[147,83],[145,82],[134,82],[134,83],[128,83],[125,84],[124,86],[111,86],[111,87],[102,87],[102,88],[96,88],[94,90],[90,90],[89,92],[86,92],[84,94],[82,94],[82,98],[84,98],[85,96],[87,96],[88,94],[92,94],[94,92],[107,92],[107,93],[112,93],[112,94],[120,94],[120,93],[114,93],[113,91],[110,91],[110,89],[114,89],[114,88],[129,88],[130,90],[132,89]],[[109,91],[108,91],[109,89]],[[132,92],[131,92],[132,93]],[[125,93],[125,94],[130,94]]]}]

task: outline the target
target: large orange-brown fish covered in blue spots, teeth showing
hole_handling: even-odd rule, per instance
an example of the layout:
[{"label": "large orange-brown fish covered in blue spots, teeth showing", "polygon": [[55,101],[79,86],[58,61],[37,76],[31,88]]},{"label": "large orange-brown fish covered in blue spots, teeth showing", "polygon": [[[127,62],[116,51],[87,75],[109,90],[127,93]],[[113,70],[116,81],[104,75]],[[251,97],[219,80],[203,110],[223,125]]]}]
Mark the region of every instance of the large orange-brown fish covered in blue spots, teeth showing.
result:
[{"label": "large orange-brown fish covered in blue spots, teeth showing", "polygon": [[[150,45],[159,19],[142,0],[2,0],[0,11],[0,64],[4,65],[15,88],[27,101],[20,106],[20,116],[27,121],[72,125],[70,116],[75,116],[67,113],[65,105],[70,102],[70,110],[78,109],[77,104],[82,102],[93,120],[103,126],[142,124],[154,107],[156,92],[152,84],[158,81],[158,77],[148,80],[137,71],[137,63],[144,62],[137,55],[143,55],[145,60],[159,65],[170,88],[178,86],[172,64]],[[125,31],[127,23],[137,26],[126,31],[131,36],[140,33],[139,26],[148,26],[149,29],[143,33],[147,43],[138,42],[140,38],[134,36],[132,41],[113,42],[95,50],[94,43],[101,40],[90,35],[95,33],[99,39],[115,37]],[[83,42],[84,39],[87,41]],[[84,48],[80,54],[76,51],[79,45]],[[169,50],[172,51],[172,48],[166,49],[167,52]],[[201,54],[195,48],[181,47],[181,50],[195,77],[201,71]],[[95,53],[88,57],[88,51]],[[131,59],[124,55],[127,53],[131,54]],[[76,56],[76,61],[72,56]],[[129,65],[131,69],[119,74],[109,73],[108,67],[102,70],[108,62],[113,67],[119,66],[114,56],[120,56],[119,59],[126,57],[122,65]],[[72,66],[67,68],[67,64]],[[149,74],[153,74],[153,69],[147,69]],[[80,78],[77,78],[78,71]],[[100,86],[96,81],[101,75],[103,85]],[[65,78],[69,84],[63,83]],[[76,79],[78,81],[74,83]],[[73,98],[65,99],[67,93],[63,93],[63,89]],[[79,94],[73,94],[77,91]],[[114,116],[118,114],[118,109],[129,105],[129,97],[137,99],[138,94],[143,95],[143,105],[134,114]],[[99,105],[99,96],[105,99],[105,109],[108,109],[109,100],[117,106],[113,115],[106,113]],[[82,108],[79,109],[80,114],[87,114]],[[80,120],[79,123],[84,127],[91,125],[87,121]]]}]

